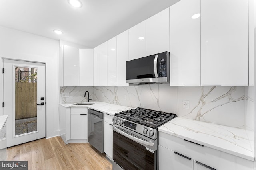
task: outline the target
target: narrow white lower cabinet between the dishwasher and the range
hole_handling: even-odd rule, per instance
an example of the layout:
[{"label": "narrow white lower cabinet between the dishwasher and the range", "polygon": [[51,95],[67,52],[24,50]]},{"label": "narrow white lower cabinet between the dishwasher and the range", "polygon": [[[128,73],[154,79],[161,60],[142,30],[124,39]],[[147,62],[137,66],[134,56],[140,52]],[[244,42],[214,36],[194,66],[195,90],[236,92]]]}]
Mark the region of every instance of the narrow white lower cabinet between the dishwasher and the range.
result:
[{"label": "narrow white lower cabinet between the dishwasher and the range", "polygon": [[113,115],[104,113],[104,152],[107,157],[112,160],[113,159],[113,123],[112,123]]}]

